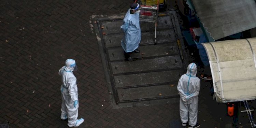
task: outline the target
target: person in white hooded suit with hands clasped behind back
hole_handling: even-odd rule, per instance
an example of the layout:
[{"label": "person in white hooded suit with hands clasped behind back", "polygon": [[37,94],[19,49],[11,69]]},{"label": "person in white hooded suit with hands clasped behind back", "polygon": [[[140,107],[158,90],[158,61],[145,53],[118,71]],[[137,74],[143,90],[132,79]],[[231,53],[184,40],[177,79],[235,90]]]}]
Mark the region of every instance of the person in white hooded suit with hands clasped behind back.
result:
[{"label": "person in white hooded suit with hands clasped behind back", "polygon": [[200,127],[200,124],[197,123],[200,79],[196,77],[196,74],[196,64],[190,63],[187,67],[187,73],[181,76],[177,86],[180,94],[180,116],[182,126],[186,126],[188,123],[188,128]]}]

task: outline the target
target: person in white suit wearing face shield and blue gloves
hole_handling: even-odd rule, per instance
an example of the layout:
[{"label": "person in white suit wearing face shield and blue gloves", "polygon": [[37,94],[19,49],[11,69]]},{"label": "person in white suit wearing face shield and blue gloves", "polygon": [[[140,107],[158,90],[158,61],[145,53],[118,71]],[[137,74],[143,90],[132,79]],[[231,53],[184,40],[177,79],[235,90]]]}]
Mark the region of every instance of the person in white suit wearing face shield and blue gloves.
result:
[{"label": "person in white suit wearing face shield and blue gloves", "polygon": [[76,85],[76,77],[73,71],[77,71],[75,60],[67,59],[66,66],[59,70],[59,75],[62,79],[60,87],[62,104],[61,116],[62,120],[68,119],[69,127],[77,127],[84,122],[84,119],[77,119],[78,116],[78,93]]}]

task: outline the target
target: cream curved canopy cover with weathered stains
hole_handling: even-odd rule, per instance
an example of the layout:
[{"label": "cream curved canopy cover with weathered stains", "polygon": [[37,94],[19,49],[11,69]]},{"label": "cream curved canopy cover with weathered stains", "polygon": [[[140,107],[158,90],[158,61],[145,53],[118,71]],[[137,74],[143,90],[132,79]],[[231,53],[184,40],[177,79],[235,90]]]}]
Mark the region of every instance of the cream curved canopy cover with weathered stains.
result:
[{"label": "cream curved canopy cover with weathered stains", "polygon": [[203,43],[217,102],[256,98],[256,38]]}]

